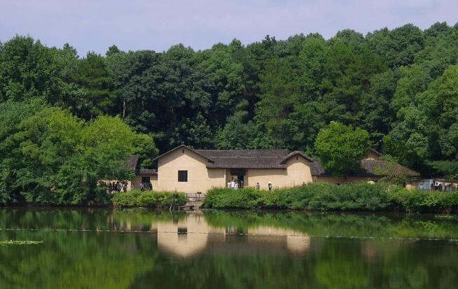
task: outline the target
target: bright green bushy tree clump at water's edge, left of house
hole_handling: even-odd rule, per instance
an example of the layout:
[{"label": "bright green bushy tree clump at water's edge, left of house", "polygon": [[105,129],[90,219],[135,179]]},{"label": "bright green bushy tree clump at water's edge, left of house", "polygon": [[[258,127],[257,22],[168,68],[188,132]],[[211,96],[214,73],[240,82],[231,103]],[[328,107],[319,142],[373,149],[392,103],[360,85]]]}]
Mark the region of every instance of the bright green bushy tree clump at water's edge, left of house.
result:
[{"label": "bright green bushy tree clump at water's edge, left of house", "polygon": [[60,108],[44,108],[20,121],[1,143],[1,181],[11,195],[20,193],[26,202],[106,201],[97,184],[132,178],[123,164],[134,152],[133,139],[119,118],[100,116],[85,123]]}]

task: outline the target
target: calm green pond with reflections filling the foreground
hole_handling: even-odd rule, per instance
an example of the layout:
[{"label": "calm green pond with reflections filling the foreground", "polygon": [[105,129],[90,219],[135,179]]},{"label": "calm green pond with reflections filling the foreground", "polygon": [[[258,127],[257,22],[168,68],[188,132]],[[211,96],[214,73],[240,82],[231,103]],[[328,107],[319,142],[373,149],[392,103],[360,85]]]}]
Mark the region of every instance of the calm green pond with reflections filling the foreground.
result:
[{"label": "calm green pond with reflections filling the foreground", "polygon": [[457,216],[0,209],[0,288],[457,288]]}]

